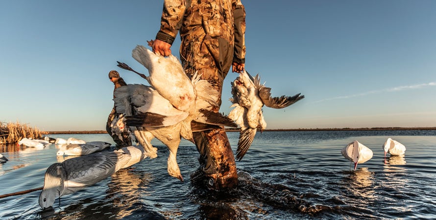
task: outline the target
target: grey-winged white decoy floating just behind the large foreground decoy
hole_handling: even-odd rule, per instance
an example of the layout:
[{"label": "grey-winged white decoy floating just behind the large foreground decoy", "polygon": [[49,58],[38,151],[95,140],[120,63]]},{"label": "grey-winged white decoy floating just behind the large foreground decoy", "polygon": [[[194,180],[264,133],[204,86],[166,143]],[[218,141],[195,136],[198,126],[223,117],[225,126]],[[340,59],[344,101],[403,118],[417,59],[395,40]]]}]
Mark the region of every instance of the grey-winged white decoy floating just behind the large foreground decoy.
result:
[{"label": "grey-winged white decoy floating just behind the large foreground decoy", "polygon": [[57,151],[57,156],[82,156],[87,154],[92,154],[97,151],[101,151],[111,144],[104,141],[91,141],[85,144],[67,144],[63,145],[59,151]]}]

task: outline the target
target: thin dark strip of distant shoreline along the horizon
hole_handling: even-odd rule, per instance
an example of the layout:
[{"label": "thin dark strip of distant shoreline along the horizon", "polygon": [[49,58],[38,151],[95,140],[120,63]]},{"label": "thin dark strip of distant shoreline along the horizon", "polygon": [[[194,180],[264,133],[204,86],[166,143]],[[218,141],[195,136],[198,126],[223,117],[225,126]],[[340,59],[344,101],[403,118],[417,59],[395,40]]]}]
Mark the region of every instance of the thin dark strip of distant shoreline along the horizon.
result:
[{"label": "thin dark strip of distant shoreline along the horizon", "polygon": [[[436,127],[429,128],[329,128],[329,129],[266,129],[263,132],[311,132],[311,131],[388,131],[388,130],[436,130]],[[240,129],[226,129],[226,132],[239,132]],[[48,131],[44,134],[92,134],[92,133],[107,133],[106,131]]]}]

